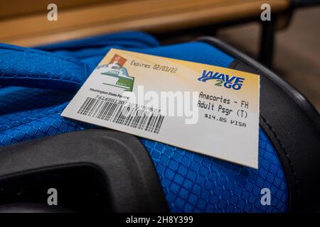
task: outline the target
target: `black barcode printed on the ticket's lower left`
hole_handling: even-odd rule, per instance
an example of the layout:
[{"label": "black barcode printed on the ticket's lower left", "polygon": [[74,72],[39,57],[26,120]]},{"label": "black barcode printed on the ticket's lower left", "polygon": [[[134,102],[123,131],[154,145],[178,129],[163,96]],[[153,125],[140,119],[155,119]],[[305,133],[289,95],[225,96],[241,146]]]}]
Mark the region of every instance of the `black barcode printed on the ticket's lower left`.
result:
[{"label": "black barcode printed on the ticket's lower left", "polygon": [[159,133],[164,121],[163,115],[153,111],[90,97],[85,99],[78,114],[156,134]]}]

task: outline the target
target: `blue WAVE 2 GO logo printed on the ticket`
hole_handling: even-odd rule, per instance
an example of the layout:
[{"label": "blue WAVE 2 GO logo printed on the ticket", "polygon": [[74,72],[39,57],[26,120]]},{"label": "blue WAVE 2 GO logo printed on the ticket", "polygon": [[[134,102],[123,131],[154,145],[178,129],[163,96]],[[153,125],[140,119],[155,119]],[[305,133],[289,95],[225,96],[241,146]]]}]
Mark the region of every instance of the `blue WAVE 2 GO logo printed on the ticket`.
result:
[{"label": "blue WAVE 2 GO logo printed on the ticket", "polygon": [[245,79],[241,77],[230,76],[228,74],[207,70],[203,70],[202,76],[198,78],[198,80],[201,82],[206,82],[210,79],[215,79],[215,86],[223,86],[225,88],[234,90],[240,90],[243,82],[245,81]]}]

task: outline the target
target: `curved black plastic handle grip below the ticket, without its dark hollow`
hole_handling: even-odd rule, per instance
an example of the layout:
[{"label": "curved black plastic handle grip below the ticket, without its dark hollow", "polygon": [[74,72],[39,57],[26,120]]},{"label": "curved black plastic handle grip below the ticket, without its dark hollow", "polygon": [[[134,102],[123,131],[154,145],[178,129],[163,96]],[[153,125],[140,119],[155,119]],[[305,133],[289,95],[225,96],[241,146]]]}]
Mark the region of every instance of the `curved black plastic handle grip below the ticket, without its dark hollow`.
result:
[{"label": "curved black plastic handle grip below the ticket, without its dark hollow", "polygon": [[0,148],[0,187],[12,177],[68,171],[66,167],[70,166],[90,166],[100,172],[111,211],[167,211],[158,176],[144,146],[133,135],[116,131],[90,129]]}]

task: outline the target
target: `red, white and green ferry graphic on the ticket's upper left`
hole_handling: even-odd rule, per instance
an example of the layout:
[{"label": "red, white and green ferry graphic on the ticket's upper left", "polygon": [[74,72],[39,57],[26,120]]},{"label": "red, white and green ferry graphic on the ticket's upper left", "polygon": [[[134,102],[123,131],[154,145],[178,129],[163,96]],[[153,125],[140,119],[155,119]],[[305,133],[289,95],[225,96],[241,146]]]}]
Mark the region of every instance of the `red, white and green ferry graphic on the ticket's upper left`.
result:
[{"label": "red, white and green ferry graphic on the ticket's upper left", "polygon": [[107,65],[100,65],[96,70],[100,74],[112,77],[107,84],[114,87],[120,87],[124,91],[132,92],[134,77],[130,77],[127,69],[123,66],[127,59],[119,55],[114,55]]}]

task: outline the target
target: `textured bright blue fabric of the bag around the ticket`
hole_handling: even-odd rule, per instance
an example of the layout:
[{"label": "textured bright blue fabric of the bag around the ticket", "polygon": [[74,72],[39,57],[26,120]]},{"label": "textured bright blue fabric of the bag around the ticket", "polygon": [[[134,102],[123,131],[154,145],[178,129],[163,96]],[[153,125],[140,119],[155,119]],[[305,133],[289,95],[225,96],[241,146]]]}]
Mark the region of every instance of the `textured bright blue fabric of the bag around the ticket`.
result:
[{"label": "textured bright blue fabric of the bag around the ticket", "polygon": [[[135,50],[228,67],[233,57],[205,43],[160,46],[139,32],[43,46],[0,45],[0,145],[92,128],[60,116],[110,48]],[[260,129],[259,170],[141,139],[173,212],[284,212],[288,189],[282,165]],[[271,205],[260,203],[262,188]]]}]

